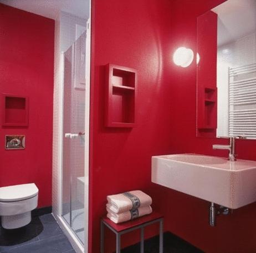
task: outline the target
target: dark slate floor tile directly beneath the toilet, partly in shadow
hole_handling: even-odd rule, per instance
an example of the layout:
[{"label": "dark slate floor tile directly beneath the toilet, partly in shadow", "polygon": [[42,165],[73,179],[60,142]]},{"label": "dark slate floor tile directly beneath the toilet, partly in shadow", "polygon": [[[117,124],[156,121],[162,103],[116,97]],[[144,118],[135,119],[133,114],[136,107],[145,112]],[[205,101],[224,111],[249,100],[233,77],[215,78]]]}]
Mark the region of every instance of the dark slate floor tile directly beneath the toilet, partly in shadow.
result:
[{"label": "dark slate floor tile directly beneath the toilet, partly in shadow", "polygon": [[0,252],[38,241],[38,235],[42,231],[43,224],[38,217],[34,217],[27,226],[19,229],[3,229],[0,226]]}]

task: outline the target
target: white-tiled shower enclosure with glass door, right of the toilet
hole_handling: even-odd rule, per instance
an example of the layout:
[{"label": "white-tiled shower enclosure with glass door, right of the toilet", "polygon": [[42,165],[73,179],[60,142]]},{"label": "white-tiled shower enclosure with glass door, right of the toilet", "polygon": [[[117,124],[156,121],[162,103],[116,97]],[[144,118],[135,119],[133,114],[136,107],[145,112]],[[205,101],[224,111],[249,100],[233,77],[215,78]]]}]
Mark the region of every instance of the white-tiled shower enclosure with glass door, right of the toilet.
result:
[{"label": "white-tiled shower enclosure with glass door, right of the toilet", "polygon": [[[59,65],[55,63],[59,68],[55,71],[55,81],[59,75],[55,91],[59,161],[58,183],[53,180],[53,214],[76,252],[88,252],[90,1],[74,4],[82,4],[76,6],[78,14],[62,11],[55,24],[55,44],[57,40],[60,52]],[[58,190],[57,201],[54,189]]]}]

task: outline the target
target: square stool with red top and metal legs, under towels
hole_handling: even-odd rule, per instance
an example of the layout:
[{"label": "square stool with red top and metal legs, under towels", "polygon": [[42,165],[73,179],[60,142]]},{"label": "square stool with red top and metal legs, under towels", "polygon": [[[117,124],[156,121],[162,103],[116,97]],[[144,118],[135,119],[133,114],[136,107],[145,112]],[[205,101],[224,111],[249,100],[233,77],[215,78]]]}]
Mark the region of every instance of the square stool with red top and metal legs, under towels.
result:
[{"label": "square stool with red top and metal legs, under towels", "polygon": [[129,222],[123,222],[116,224],[109,218],[101,218],[100,222],[100,253],[104,253],[104,226],[109,228],[116,234],[116,253],[121,251],[121,235],[128,233],[135,229],[141,229],[140,232],[140,252],[144,253],[144,228],[145,226],[159,222],[159,252],[163,253],[163,215],[152,212],[151,214],[130,220]]}]

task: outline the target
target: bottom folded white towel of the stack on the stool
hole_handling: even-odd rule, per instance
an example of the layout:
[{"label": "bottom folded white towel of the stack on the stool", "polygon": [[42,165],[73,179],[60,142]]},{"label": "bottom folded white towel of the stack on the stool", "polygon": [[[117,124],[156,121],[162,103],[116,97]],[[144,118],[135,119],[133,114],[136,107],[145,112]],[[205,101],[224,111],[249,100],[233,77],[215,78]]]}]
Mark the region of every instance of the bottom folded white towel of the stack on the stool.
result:
[{"label": "bottom folded white towel of the stack on the stool", "polygon": [[150,213],[152,213],[152,208],[150,205],[147,205],[146,207],[139,207],[124,213],[114,213],[107,208],[107,218],[112,220],[114,223],[127,222],[128,220],[132,220]]}]

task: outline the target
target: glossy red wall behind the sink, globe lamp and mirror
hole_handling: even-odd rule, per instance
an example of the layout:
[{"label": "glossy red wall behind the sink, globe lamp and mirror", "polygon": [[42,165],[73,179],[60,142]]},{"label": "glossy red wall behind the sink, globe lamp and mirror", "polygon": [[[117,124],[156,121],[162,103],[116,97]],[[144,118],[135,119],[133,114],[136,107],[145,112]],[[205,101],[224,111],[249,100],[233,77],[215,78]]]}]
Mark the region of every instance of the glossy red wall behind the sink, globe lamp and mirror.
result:
[{"label": "glossy red wall behind the sink, globe lamp and mirror", "polygon": [[[172,50],[185,45],[196,52],[196,17],[224,2],[222,0],[172,1]],[[170,100],[172,119],[170,153],[196,152],[227,157],[227,151],[212,150],[213,144],[227,144],[227,140],[196,137],[196,63],[179,68],[171,61]],[[239,159],[256,160],[256,141],[238,140]],[[202,189],[203,191],[203,189]],[[170,189],[162,189],[168,199],[165,215],[166,229],[190,241],[205,252],[255,252],[256,204],[234,210],[232,215],[217,218],[217,226],[208,225],[208,203]],[[165,200],[166,202],[166,200]],[[162,209],[164,210],[164,203]]]}]

